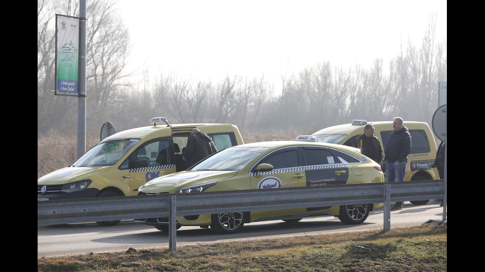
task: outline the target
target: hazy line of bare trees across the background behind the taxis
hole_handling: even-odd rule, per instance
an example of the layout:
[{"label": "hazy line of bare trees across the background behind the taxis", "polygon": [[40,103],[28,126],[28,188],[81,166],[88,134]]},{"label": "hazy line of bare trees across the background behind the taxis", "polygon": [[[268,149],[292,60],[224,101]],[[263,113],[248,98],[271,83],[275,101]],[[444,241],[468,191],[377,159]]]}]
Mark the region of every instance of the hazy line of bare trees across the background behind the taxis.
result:
[{"label": "hazy line of bare trees across the background behind the taxis", "polygon": [[[37,128],[38,137],[77,130],[77,98],[54,96],[54,14],[79,14],[77,0],[38,0]],[[438,82],[447,79],[447,43],[437,41],[430,19],[421,46],[403,45],[389,63],[376,59],[371,68],[342,68],[322,60],[298,73],[282,75],[276,89],[262,75],[226,75],[202,81],[177,74],[133,82],[126,71],[130,53],[127,27],[113,0],[88,1],[87,131],[99,133],[105,121],[117,131],[149,125],[151,117],[171,123],[221,122],[240,130],[288,128],[295,135],[348,123],[426,121],[438,107]],[[217,76],[217,75],[214,75]],[[301,133],[300,133],[301,132]]]}]

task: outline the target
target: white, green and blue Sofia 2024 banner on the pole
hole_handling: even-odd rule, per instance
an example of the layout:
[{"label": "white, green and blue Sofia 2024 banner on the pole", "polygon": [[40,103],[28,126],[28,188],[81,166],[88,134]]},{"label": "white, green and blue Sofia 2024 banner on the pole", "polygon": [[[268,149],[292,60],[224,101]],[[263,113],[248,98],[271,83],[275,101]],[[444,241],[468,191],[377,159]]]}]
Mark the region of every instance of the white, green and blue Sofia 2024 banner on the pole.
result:
[{"label": "white, green and blue Sofia 2024 banner on the pole", "polygon": [[55,15],[55,95],[78,95],[79,18]]}]

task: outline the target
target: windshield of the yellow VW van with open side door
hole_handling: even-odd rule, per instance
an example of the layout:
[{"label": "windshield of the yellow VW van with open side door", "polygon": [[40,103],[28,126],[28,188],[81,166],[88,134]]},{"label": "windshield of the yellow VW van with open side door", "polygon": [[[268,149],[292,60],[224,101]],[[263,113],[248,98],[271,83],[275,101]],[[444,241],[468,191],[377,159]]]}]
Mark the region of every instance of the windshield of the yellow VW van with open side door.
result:
[{"label": "windshield of the yellow VW van with open side door", "polygon": [[120,160],[140,139],[117,139],[103,141],[72,164],[74,167],[113,165]]}]

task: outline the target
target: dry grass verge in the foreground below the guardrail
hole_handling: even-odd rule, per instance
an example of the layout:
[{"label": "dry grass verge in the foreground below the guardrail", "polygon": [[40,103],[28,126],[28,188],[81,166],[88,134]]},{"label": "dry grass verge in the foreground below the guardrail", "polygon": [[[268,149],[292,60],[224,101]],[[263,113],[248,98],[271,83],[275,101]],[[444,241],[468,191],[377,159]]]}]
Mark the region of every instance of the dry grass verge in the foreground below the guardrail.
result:
[{"label": "dry grass verge in the foreground below the guardrail", "polygon": [[398,228],[40,258],[38,272],[447,271],[447,227]]}]

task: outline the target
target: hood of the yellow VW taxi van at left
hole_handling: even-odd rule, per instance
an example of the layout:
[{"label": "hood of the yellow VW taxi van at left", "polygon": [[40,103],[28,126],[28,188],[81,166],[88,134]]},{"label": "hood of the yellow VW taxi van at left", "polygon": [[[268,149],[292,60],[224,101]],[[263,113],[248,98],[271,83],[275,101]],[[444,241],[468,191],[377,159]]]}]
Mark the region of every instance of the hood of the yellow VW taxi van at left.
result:
[{"label": "hood of the yellow VW taxi van at left", "polygon": [[85,180],[93,175],[105,172],[109,166],[101,167],[64,167],[39,178],[37,184],[66,184]]}]

